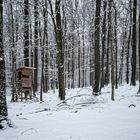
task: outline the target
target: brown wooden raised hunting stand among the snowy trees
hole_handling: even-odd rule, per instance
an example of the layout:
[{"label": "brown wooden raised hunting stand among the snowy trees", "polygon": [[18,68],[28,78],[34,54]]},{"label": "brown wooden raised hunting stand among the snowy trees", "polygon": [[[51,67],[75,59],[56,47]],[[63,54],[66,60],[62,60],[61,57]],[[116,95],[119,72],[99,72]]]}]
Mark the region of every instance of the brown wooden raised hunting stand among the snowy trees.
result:
[{"label": "brown wooden raised hunting stand among the snowy trees", "polygon": [[16,69],[16,100],[32,98],[33,70],[32,67]]}]

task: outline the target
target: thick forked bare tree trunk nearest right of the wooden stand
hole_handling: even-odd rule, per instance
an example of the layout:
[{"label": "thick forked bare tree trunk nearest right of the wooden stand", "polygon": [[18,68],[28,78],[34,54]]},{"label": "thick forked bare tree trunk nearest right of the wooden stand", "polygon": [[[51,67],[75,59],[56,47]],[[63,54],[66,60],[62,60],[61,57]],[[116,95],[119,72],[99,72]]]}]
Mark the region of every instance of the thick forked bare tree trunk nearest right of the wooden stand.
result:
[{"label": "thick forked bare tree trunk nearest right of the wooden stand", "polygon": [[49,0],[49,4],[50,4],[50,9],[51,9],[52,21],[54,25],[55,38],[56,38],[56,44],[57,44],[59,97],[61,100],[64,100],[65,99],[64,50],[63,50],[63,43],[62,43],[62,26],[61,26],[61,10],[60,10],[61,0],[55,1],[55,15],[53,12],[51,0]]}]

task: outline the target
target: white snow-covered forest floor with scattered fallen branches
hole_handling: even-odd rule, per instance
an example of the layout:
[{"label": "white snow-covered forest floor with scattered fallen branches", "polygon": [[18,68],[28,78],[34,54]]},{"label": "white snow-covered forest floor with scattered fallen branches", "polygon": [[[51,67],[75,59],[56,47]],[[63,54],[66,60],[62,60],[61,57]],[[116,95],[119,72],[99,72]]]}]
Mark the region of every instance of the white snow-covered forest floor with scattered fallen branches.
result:
[{"label": "white snow-covered forest floor with scattered fallen branches", "polygon": [[10,103],[8,97],[14,128],[0,131],[0,140],[140,140],[137,91],[138,87],[121,86],[115,101],[110,100],[109,86],[98,97],[90,88],[67,90],[66,103],[53,91],[44,94],[42,103]]}]

